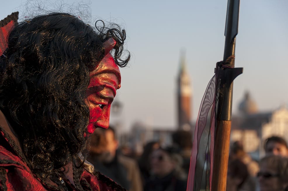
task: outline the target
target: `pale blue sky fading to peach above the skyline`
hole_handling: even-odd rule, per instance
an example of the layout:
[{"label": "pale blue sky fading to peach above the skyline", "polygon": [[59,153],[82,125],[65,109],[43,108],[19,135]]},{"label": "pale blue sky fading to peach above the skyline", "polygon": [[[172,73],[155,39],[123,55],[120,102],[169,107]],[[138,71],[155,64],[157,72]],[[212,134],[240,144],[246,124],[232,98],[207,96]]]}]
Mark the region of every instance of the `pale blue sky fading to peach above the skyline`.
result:
[{"label": "pale blue sky fading to peach above the skyline", "polygon": [[[0,19],[21,4],[20,0],[3,1]],[[151,127],[176,127],[181,49],[185,49],[192,80],[192,119],[196,120],[215,64],[223,58],[226,7],[227,0],[92,2],[92,15],[126,29],[132,59],[129,67],[120,69],[122,87],[116,96],[123,103],[120,121],[126,130],[136,121]],[[260,111],[288,103],[287,34],[288,1],[240,1],[235,67],[243,67],[244,72],[234,81],[234,114],[246,90]]]}]

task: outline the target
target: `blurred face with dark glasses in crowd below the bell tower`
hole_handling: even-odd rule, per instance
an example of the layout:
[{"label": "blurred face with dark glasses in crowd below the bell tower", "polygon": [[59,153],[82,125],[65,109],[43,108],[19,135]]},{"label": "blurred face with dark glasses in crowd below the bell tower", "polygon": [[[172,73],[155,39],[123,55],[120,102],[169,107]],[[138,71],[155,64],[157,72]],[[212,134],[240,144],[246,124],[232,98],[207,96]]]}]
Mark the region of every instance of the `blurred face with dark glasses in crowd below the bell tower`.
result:
[{"label": "blurred face with dark glasses in crowd below the bell tower", "polygon": [[157,177],[170,174],[175,168],[175,162],[165,151],[160,149],[153,151],[151,155],[151,170]]}]

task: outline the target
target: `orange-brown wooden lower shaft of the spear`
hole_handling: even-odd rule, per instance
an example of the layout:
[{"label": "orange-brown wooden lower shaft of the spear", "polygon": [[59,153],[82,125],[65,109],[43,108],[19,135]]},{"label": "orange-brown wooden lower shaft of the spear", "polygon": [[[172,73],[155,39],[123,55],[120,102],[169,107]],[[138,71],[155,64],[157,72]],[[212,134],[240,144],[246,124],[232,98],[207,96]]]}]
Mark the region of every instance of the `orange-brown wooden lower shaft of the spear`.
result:
[{"label": "orange-brown wooden lower shaft of the spear", "polygon": [[[214,142],[211,191],[225,191],[229,158],[231,121],[219,121]],[[219,136],[221,135],[221,136]]]}]

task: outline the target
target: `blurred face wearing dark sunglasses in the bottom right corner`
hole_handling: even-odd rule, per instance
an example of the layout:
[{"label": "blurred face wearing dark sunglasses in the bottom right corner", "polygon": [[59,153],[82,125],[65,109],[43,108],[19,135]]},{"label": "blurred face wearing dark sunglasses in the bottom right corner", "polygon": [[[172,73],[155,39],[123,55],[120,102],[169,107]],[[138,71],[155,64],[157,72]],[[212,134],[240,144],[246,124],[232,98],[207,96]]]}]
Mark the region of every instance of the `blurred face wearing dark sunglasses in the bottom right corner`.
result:
[{"label": "blurred face wearing dark sunglasses in the bottom right corner", "polygon": [[281,191],[284,185],[281,183],[279,174],[271,165],[262,163],[257,174],[260,191]]}]

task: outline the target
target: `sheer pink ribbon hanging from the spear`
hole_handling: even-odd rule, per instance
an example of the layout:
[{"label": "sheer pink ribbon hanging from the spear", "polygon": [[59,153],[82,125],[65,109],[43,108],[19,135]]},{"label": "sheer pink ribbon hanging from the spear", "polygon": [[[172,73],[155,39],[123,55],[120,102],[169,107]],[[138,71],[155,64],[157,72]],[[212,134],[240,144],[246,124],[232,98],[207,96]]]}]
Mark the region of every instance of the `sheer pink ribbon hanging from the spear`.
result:
[{"label": "sheer pink ribbon hanging from the spear", "polygon": [[210,190],[214,154],[216,82],[214,75],[201,101],[190,158],[187,191],[199,191],[204,187],[207,191]]}]

